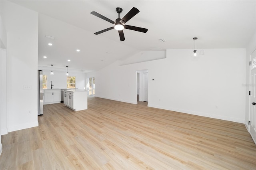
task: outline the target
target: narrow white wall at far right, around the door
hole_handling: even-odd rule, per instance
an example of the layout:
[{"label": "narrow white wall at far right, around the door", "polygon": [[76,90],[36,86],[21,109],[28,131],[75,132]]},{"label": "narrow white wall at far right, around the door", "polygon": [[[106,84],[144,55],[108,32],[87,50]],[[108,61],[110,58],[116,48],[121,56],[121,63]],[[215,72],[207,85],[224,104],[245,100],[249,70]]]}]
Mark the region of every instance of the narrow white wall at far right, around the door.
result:
[{"label": "narrow white wall at far right, around the door", "polygon": [[252,36],[250,42],[248,43],[246,47],[246,105],[245,105],[245,120],[244,124],[246,125],[247,130],[249,130],[249,116],[250,116],[250,97],[249,97],[249,91],[250,91],[250,54],[256,49],[256,32],[254,36]]}]

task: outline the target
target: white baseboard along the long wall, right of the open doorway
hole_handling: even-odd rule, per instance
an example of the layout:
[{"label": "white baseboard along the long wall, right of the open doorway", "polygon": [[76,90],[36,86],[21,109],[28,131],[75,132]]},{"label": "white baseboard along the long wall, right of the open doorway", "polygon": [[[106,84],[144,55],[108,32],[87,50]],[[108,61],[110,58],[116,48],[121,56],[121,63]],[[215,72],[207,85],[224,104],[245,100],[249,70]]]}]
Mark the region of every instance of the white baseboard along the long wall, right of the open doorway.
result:
[{"label": "white baseboard along the long wall, right of the open doorway", "polygon": [[190,114],[190,115],[210,117],[210,118],[220,119],[220,120],[224,120],[224,121],[244,123],[244,119],[237,119],[237,118],[234,118],[234,117],[226,117],[226,116],[221,116],[221,115],[213,115],[213,114],[210,114],[210,113],[188,111],[188,110],[177,109],[177,108],[167,108],[167,107],[162,107],[162,106],[158,106],[158,105],[150,105],[150,104],[148,104],[148,107],[154,107],[154,108],[164,109],[164,110],[168,110],[168,111],[176,111],[176,112],[180,112],[180,113],[187,113],[187,114]]}]

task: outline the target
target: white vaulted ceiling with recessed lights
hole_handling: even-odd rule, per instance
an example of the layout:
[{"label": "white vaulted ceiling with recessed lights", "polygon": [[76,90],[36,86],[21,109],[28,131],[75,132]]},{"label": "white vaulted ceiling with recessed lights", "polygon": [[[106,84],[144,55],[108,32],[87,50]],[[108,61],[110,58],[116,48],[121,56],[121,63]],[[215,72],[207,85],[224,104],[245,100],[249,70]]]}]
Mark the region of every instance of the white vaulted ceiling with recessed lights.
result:
[{"label": "white vaulted ceiling with recessed lights", "polygon": [[[18,0],[12,2],[39,12],[38,66],[99,70],[116,60],[139,51],[196,48],[245,48],[256,30],[255,0]],[[116,7],[123,9],[120,18],[132,7],[140,12],[128,25],[148,28],[141,33],[124,30],[99,35],[94,32],[113,25],[90,12],[96,11],[111,20],[118,18]],[[45,36],[53,36],[51,40]],[[158,39],[166,40],[166,43]],[[49,46],[48,43],[53,43]],[[80,49],[80,52],[76,52]],[[44,59],[43,56],[47,58]],[[68,62],[67,60],[71,61]]]}]

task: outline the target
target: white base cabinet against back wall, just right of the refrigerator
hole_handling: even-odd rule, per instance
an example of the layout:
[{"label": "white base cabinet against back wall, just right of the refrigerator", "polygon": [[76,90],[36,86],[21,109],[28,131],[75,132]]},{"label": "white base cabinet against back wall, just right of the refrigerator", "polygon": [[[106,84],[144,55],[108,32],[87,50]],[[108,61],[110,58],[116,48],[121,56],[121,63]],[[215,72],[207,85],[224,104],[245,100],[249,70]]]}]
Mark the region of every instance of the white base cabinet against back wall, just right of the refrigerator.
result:
[{"label": "white base cabinet against back wall, just right of the refrigerator", "polygon": [[43,104],[60,103],[60,89],[45,89],[43,90]]}]

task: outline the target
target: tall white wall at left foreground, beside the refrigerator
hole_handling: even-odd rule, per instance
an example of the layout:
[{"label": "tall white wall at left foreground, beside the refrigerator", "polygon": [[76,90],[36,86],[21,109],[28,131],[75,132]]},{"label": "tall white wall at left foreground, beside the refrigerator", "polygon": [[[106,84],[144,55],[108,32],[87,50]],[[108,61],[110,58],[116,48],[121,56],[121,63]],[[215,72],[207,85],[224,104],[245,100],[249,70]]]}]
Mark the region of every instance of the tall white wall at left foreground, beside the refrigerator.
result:
[{"label": "tall white wall at left foreground, beside the refrigerator", "polygon": [[[38,126],[38,13],[1,1],[1,17],[7,32],[7,125],[10,132]],[[32,89],[25,90],[24,86]]]}]

